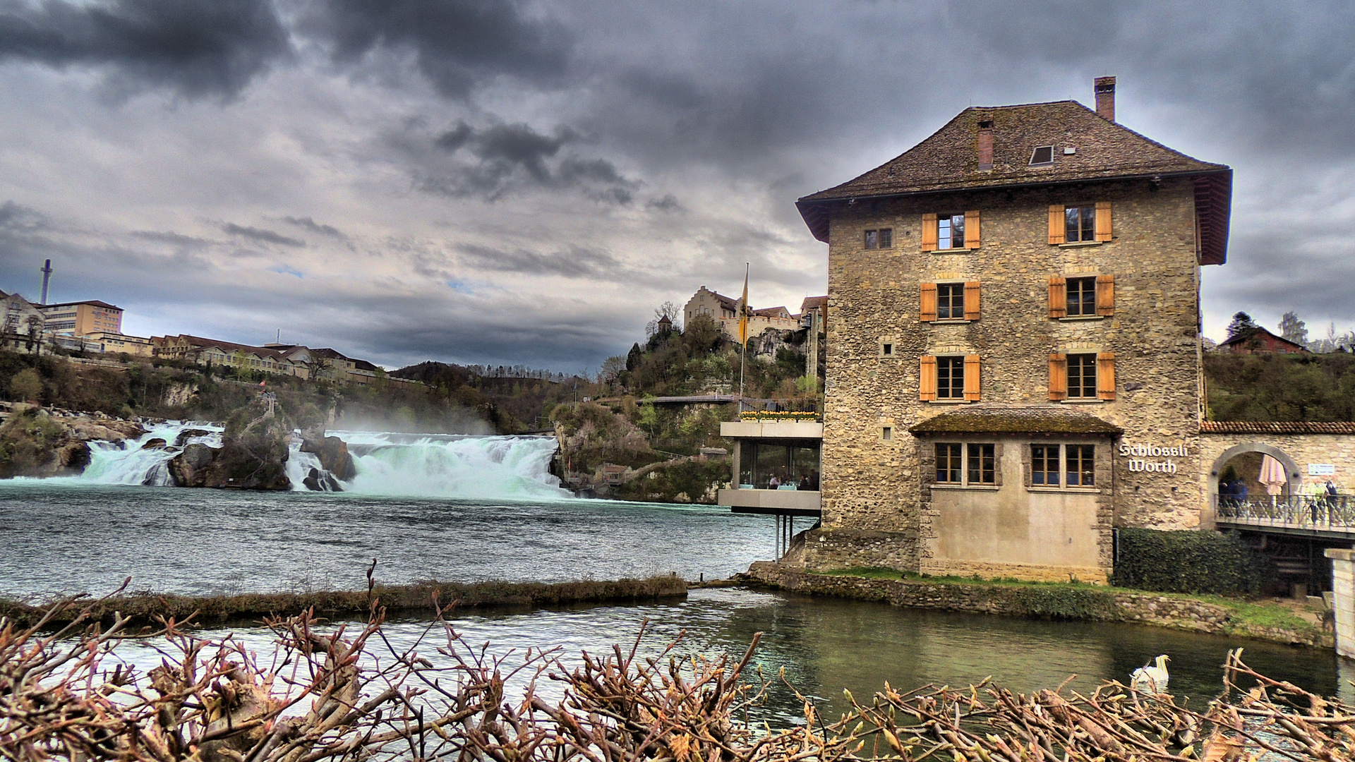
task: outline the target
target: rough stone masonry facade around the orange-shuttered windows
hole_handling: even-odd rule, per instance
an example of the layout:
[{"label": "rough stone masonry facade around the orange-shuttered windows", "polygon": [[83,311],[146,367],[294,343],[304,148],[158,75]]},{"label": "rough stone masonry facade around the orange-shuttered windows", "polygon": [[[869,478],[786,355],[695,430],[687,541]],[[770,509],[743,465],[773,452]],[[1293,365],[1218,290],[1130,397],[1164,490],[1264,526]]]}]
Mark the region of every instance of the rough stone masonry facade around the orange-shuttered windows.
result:
[{"label": "rough stone masonry facade around the orange-shuttered windows", "polygon": [[[1051,203],[1112,205],[1112,240],[1050,245]],[[981,212],[981,247],[921,252],[924,213]],[[894,245],[864,249],[863,230],[890,226]],[[1047,355],[1112,351],[1118,396],[1081,407],[1125,428],[1125,442],[1186,445],[1177,475],[1129,473],[1114,458],[1119,526],[1194,526],[1202,504],[1195,454],[1199,415],[1194,195],[1188,180],[1106,182],[864,201],[832,217],[828,263],[824,529],[869,530],[916,546],[923,499],[919,445],[906,428],[953,409],[919,401],[919,357],[977,354],[982,401],[1046,403]],[[1115,277],[1115,315],[1051,320],[1051,275]],[[978,281],[972,323],[919,321],[920,283]],[[890,340],[894,357],[881,357]],[[1133,388],[1133,390],[1129,389]],[[1079,403],[1065,403],[1079,404]],[[882,426],[896,435],[883,439]],[[1103,453],[1111,457],[1111,453]],[[1102,453],[1098,454],[1102,457]],[[806,555],[806,559],[812,556]],[[883,561],[882,561],[883,563]],[[889,565],[916,571],[920,557]]]}]

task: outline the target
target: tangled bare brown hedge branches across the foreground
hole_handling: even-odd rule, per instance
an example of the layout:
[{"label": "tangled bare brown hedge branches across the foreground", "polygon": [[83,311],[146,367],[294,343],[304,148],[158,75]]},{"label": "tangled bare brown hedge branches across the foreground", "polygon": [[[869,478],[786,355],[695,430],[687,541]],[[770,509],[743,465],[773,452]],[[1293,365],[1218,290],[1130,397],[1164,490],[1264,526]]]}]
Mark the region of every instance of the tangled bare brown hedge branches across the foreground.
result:
[{"label": "tangled bare brown hedge branches across the foreground", "polygon": [[[436,607],[436,601],[434,602]],[[50,617],[76,606],[66,601]],[[313,614],[270,620],[266,660],[226,636],[183,624],[129,632],[89,605],[65,628],[0,622],[0,757],[16,761],[321,762],[1344,762],[1351,708],[1271,681],[1229,654],[1224,691],[1202,712],[1117,682],[1089,696],[1058,686],[1031,694],[988,683],[888,683],[869,704],[825,721],[804,698],[805,723],[748,721],[768,682],[749,679],[759,636],[741,659],[629,649],[566,660],[561,651],[493,655],[442,617],[397,648],[373,599],[366,625]],[[160,664],[117,656],[146,639]],[[1241,690],[1238,681],[1253,682]]]}]

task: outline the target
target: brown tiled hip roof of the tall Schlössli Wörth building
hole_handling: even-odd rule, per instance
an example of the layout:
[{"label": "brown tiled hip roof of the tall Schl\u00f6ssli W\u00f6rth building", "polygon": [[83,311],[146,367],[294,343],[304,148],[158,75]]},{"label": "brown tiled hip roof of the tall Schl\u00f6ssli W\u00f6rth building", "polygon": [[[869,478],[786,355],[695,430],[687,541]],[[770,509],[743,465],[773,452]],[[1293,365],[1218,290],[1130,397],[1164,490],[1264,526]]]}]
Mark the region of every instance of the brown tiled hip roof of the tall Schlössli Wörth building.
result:
[{"label": "brown tiled hip roof of the tall Schl\u00f6ssli W\u00f6rth building", "polygon": [[[993,168],[978,169],[978,122],[992,121]],[[1035,148],[1053,161],[1031,165]],[[1065,148],[1076,153],[1065,155]],[[931,137],[840,186],[795,202],[814,237],[828,240],[832,202],[957,190],[1038,186],[1154,175],[1195,176],[1203,264],[1222,264],[1232,169],[1201,161],[1098,115],[1076,100],[965,108]]]}]

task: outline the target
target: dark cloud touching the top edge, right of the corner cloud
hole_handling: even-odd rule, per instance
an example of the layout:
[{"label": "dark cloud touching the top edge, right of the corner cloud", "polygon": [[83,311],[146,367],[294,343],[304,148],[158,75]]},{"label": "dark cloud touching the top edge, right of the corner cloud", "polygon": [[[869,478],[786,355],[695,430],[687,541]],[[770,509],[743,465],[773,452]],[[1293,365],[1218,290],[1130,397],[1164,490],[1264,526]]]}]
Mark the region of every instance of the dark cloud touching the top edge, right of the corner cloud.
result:
[{"label": "dark cloud touching the top edge, right of the corner cloud", "polygon": [[465,98],[497,75],[553,84],[572,38],[512,0],[325,0],[313,5],[304,27],[328,41],[344,64],[378,49],[412,52],[419,71],[449,98]]}]

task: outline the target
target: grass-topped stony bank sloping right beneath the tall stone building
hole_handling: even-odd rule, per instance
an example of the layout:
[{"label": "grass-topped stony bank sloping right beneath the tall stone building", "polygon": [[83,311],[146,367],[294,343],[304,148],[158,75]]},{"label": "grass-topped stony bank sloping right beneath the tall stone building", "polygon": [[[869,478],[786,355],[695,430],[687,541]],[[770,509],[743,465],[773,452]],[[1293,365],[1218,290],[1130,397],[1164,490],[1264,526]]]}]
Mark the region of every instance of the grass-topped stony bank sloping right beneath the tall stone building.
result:
[{"label": "grass-topped stony bank sloping right beneath the tall stone building", "polygon": [[1215,595],[1144,593],[1077,583],[912,578],[893,569],[809,572],[774,561],[753,563],[743,579],[790,593],[879,601],[913,609],[1133,622],[1314,648],[1335,647],[1332,632],[1302,620],[1285,606]]}]

